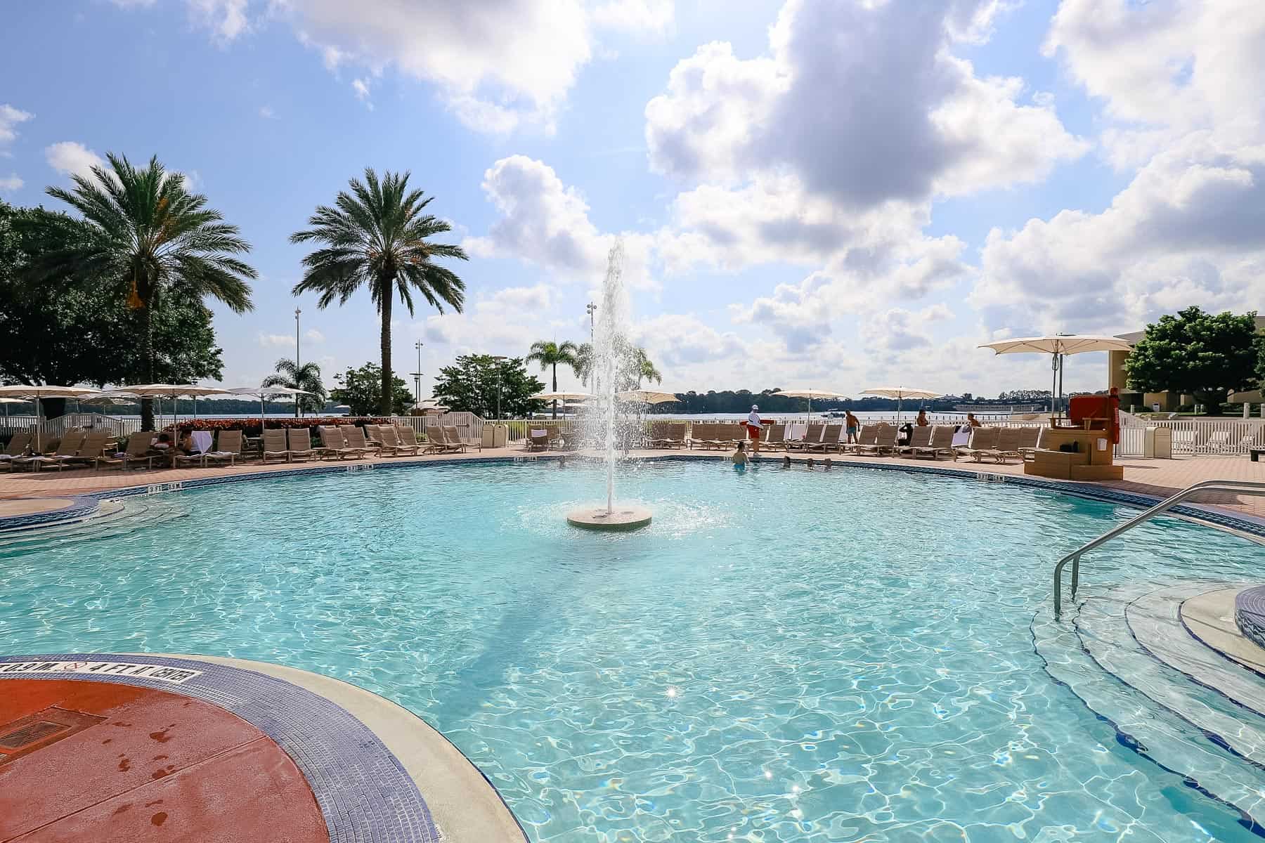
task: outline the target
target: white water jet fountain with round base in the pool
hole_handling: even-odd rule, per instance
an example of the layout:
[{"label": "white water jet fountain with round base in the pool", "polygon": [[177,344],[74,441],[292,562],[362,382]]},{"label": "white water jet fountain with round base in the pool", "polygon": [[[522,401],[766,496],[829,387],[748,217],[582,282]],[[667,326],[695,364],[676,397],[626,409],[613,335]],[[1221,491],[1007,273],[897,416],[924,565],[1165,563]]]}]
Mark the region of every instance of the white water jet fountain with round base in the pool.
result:
[{"label": "white water jet fountain with round base in the pool", "polygon": [[597,306],[597,324],[593,326],[592,364],[589,380],[593,388],[595,409],[588,416],[588,439],[601,442],[606,461],[606,500],[589,503],[567,513],[567,521],[586,530],[636,530],[650,523],[650,511],[645,507],[615,500],[615,463],[621,450],[619,437],[624,418],[616,393],[629,365],[629,301],[624,289],[624,243],[616,240],[606,262],[606,279],[602,300]]}]

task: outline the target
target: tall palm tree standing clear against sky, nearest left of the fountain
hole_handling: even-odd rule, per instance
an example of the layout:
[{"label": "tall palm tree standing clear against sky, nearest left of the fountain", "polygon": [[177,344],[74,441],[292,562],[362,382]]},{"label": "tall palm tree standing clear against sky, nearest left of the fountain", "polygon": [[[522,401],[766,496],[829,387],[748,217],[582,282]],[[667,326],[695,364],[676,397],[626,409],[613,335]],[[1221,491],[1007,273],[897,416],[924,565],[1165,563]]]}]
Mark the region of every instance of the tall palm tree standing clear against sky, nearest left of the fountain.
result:
[{"label": "tall palm tree standing clear against sky, nearest left of the fountain", "polygon": [[[398,293],[412,316],[416,289],[440,313],[444,303],[458,313],[466,301],[466,283],[450,269],[431,263],[431,258],[466,260],[458,245],[430,243],[426,238],[450,231],[452,226],[424,209],[434,197],[409,190],[409,173],[387,172],[382,181],[371,168],[364,182],[353,178],[350,193],[339,191],[335,207],[320,205],[307,220],[312,226],[290,235],[291,243],[318,240],[324,248],[304,258],[304,278],[293,294],[318,292],[319,307],[335,298],[345,305],[361,287],[382,318],[382,393],[379,412],[391,415],[391,305]],[[425,197],[425,198],[424,198]]]}]

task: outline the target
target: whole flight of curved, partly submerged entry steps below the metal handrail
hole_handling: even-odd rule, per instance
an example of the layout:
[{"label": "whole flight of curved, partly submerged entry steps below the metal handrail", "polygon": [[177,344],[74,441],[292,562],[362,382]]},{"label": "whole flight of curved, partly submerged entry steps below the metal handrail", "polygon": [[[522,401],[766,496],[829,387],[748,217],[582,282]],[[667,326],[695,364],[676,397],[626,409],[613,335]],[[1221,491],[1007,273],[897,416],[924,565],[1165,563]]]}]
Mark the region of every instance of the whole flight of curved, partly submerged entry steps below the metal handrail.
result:
[{"label": "whole flight of curved, partly submerged entry steps below the metal handrail", "polygon": [[1046,672],[1116,741],[1265,833],[1265,650],[1233,631],[1247,584],[1131,583],[1084,599],[1032,638]]}]

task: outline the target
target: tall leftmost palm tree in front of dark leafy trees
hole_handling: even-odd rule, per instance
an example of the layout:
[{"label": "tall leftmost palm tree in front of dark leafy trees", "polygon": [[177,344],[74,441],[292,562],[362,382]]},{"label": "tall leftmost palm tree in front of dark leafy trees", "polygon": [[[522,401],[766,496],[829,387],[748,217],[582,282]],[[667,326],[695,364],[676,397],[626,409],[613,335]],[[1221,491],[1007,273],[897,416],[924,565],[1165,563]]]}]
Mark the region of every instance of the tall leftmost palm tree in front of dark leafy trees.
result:
[{"label": "tall leftmost palm tree in front of dark leafy trees", "polygon": [[[185,177],[168,173],[157,155],[143,168],[125,155],[106,155],[92,178],[75,176],[75,190],[48,195],[83,216],[89,236],[32,260],[33,282],[105,283],[140,312],[140,351],[154,380],[153,313],[172,294],[214,298],[242,313],[253,307],[247,279],[256,270],[235,258],[250,250],[238,227],[224,222],[206,197],[190,193]],[[153,399],[140,402],[140,423],[153,430]]]}]

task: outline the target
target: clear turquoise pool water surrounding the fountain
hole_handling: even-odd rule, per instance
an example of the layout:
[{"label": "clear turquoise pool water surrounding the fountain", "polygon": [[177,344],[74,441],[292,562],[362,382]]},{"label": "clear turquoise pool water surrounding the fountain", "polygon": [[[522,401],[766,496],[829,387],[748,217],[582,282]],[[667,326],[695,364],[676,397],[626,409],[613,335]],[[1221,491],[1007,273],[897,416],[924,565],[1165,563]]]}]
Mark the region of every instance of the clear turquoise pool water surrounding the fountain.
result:
[{"label": "clear turquoise pool water surrounding the fountain", "polygon": [[[534,840],[1259,840],[1034,652],[1054,560],[1130,514],[896,471],[660,463],[646,531],[563,523],[595,469],[431,466],[168,497],[0,551],[5,650],[200,652],[410,708]],[[1087,583],[1259,573],[1155,522]]]}]

